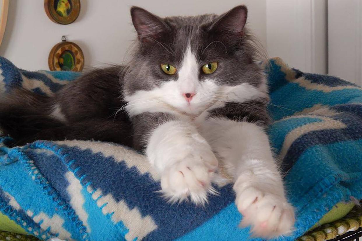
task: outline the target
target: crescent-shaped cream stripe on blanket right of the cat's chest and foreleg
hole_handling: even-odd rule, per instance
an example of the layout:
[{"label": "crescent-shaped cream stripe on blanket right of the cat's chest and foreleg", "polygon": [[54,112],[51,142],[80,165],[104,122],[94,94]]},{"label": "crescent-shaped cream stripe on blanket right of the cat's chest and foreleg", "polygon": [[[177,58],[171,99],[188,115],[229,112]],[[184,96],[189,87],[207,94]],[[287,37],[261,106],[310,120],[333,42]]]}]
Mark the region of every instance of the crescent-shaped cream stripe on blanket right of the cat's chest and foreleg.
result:
[{"label": "crescent-shaped cream stripe on blanket right of the cat's chest and foreleg", "polygon": [[[300,117],[300,116],[298,116]],[[312,117],[312,116],[308,116],[308,117]],[[285,139],[284,139],[284,143],[281,149],[281,152],[279,154],[279,159],[283,160],[285,155],[287,154],[287,151],[289,149],[289,147],[292,145],[292,143],[298,139],[300,136],[308,133],[308,132],[312,132],[315,130],[325,130],[325,129],[342,129],[342,128],[346,128],[346,125],[338,120],[333,120],[331,118],[328,117],[321,117],[321,116],[316,116],[317,118],[323,120],[322,122],[313,122],[313,123],[308,123],[306,125],[300,126],[298,128],[293,129],[291,132],[289,132]]]}]

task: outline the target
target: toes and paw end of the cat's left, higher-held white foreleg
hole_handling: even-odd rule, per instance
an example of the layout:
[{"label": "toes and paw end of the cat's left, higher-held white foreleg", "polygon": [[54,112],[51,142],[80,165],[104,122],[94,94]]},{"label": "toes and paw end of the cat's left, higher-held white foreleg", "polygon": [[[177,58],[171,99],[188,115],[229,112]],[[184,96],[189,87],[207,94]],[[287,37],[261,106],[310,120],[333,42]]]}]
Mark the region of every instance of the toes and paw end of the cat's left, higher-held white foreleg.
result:
[{"label": "toes and paw end of the cat's left, higher-held white foreleg", "polygon": [[217,194],[211,186],[218,161],[211,152],[187,155],[167,169],[161,175],[161,192],[169,202],[182,202],[190,197],[196,204],[204,205],[208,193]]}]

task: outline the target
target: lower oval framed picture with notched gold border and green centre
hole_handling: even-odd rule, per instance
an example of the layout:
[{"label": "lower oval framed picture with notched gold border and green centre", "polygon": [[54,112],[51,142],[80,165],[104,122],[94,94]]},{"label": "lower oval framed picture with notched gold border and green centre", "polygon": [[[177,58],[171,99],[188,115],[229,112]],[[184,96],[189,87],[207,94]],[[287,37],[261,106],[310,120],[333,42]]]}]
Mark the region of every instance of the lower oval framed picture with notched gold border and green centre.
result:
[{"label": "lower oval framed picture with notched gold border and green centre", "polygon": [[81,48],[68,41],[63,41],[51,49],[48,57],[49,69],[54,71],[80,72],[84,67],[84,55]]}]

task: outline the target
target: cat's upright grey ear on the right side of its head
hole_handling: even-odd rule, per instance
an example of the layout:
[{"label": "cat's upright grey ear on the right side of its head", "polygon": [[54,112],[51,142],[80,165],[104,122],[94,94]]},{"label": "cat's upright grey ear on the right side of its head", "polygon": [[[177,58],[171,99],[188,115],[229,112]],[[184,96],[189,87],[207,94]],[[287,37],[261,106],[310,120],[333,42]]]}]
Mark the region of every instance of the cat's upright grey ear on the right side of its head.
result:
[{"label": "cat's upright grey ear on the right side of its head", "polygon": [[243,36],[247,17],[248,8],[245,5],[236,6],[218,17],[209,27],[209,31]]}]

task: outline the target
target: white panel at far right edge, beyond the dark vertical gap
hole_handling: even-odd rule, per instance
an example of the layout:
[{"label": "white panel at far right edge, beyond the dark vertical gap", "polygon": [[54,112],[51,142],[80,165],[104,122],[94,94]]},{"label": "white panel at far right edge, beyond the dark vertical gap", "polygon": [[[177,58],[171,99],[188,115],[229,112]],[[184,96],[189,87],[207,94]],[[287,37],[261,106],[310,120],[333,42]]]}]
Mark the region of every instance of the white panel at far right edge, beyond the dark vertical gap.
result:
[{"label": "white panel at far right edge, beyond the dark vertical gap", "polygon": [[362,86],[362,0],[328,1],[328,70]]}]

